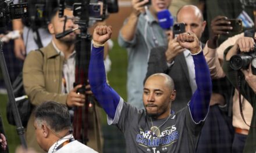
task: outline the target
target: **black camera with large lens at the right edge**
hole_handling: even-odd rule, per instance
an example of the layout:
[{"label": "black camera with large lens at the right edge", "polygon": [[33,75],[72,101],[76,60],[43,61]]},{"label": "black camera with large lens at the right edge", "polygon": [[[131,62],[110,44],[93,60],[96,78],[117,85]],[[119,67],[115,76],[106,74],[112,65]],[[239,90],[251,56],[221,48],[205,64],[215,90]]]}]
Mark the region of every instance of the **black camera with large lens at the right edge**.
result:
[{"label": "black camera with large lens at the right edge", "polygon": [[232,56],[229,63],[233,70],[247,70],[251,63],[253,74],[256,75],[256,46],[251,52],[243,52]]}]

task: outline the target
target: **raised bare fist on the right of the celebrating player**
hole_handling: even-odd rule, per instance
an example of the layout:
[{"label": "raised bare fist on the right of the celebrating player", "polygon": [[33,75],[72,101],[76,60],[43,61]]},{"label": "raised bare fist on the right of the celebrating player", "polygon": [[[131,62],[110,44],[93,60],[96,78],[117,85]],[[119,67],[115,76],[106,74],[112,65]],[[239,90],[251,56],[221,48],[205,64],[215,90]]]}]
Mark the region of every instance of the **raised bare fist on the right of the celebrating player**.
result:
[{"label": "raised bare fist on the right of the celebrating player", "polygon": [[201,51],[200,42],[194,33],[183,33],[177,36],[177,42],[180,46],[190,50],[191,54],[197,54]]}]

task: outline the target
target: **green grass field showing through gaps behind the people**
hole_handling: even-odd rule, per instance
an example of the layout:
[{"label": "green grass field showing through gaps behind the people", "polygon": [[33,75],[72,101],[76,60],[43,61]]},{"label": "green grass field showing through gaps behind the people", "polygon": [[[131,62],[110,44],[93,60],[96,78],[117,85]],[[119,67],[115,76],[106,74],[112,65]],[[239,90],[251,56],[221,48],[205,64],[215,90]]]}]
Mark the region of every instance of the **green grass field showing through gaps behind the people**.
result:
[{"label": "green grass field showing through gaps behind the people", "polygon": [[[127,53],[123,48],[120,48],[118,46],[117,41],[114,41],[114,44],[115,45],[113,46],[113,49],[109,53],[109,56],[112,61],[112,67],[111,67],[111,71],[108,74],[108,80],[111,86],[113,87],[113,89],[115,89],[120,94],[120,96],[122,96],[123,99],[126,100],[127,99],[127,96],[126,96]],[[0,113],[3,119],[5,134],[8,139],[9,152],[15,152],[15,148],[17,147],[17,145],[20,144],[20,141],[19,141],[19,136],[17,136],[16,127],[9,125],[8,122],[6,121],[7,100],[8,100],[8,97],[5,94],[0,94]],[[106,127],[105,112],[102,113],[101,121],[102,121],[102,127]],[[104,132],[107,132],[106,128],[103,128],[103,130]],[[109,140],[106,140],[105,142],[109,144],[111,142],[108,142],[108,141],[111,141],[111,139],[112,138],[109,138]]]}]

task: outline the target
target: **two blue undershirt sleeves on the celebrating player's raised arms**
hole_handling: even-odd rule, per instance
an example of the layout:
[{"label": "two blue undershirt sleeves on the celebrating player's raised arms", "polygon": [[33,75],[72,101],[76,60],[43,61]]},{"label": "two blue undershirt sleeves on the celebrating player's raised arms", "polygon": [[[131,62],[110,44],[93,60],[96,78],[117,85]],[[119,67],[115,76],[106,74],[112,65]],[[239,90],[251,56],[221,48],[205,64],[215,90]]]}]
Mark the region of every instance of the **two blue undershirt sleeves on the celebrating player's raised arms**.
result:
[{"label": "two blue undershirt sleeves on the celebrating player's raised arms", "polygon": [[[209,68],[202,52],[193,55],[193,59],[197,90],[191,98],[189,107],[193,120],[198,123],[204,120],[207,115],[209,101],[211,99],[212,83]],[[104,108],[106,114],[113,119],[120,101],[120,96],[106,83],[104,47],[92,48],[88,76],[94,96],[102,108]]]}]

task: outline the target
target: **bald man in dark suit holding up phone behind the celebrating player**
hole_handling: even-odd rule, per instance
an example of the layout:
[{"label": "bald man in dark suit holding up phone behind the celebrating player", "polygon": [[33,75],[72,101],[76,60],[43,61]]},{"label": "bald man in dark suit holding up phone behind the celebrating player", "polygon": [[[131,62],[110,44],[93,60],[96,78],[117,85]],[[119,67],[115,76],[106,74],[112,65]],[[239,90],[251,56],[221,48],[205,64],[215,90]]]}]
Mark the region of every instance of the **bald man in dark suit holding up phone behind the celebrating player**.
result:
[{"label": "bald man in dark suit holding up phone behind the celebrating player", "polygon": [[[180,8],[177,12],[177,22],[184,23],[186,32],[193,32],[198,39],[201,38],[206,25],[202,13],[194,5],[185,5]],[[201,42],[200,46],[204,48]],[[172,103],[172,110],[179,111],[187,105],[197,85],[193,58],[190,51],[177,42],[177,38],[170,37],[168,46],[160,46],[151,50],[146,78],[159,72],[173,78],[178,94]]]}]

